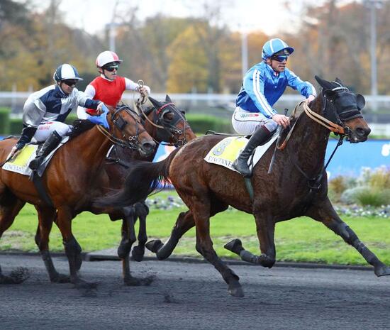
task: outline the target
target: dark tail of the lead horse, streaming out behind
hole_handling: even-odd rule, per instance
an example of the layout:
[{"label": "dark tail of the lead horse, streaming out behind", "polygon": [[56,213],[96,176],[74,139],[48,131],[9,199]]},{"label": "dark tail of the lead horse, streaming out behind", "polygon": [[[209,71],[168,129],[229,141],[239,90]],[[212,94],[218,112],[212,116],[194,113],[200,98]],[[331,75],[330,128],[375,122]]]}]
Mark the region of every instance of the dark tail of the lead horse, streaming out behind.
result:
[{"label": "dark tail of the lead horse, streaming out behind", "polygon": [[113,207],[121,209],[143,201],[147,195],[169,182],[169,165],[179,148],[174,150],[165,160],[158,163],[137,161],[132,163],[122,189],[94,200],[93,206],[98,208]]}]

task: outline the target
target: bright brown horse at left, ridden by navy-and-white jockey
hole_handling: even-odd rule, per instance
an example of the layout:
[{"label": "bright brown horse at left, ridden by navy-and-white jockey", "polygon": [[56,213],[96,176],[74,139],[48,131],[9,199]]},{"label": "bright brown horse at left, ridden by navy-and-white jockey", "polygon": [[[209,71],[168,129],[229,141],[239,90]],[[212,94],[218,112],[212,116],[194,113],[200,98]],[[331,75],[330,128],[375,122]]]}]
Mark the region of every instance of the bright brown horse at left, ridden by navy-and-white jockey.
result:
[{"label": "bright brown horse at left, ridden by navy-and-white jockey", "polygon": [[[134,111],[126,107],[110,109],[106,118],[108,131],[89,121],[80,121],[80,125],[76,126],[74,131],[82,129],[82,126],[89,129],[70,139],[53,156],[42,177],[53,206],[40,197],[27,176],[2,168],[0,170],[0,237],[11,226],[26,202],[35,205],[39,218],[39,235],[35,238],[40,251],[43,251],[45,265],[50,267],[48,241],[52,221],[56,219],[69,260],[70,281],[78,287],[90,285],[78,274],[82,262],[81,248],[72,234],[72,219],[84,205],[90,204],[91,199],[101,196],[101,186],[108,186],[108,175],[99,175],[104,172],[108,149],[112,143],[116,143],[148,156],[155,148],[155,142],[145,131],[140,117]],[[16,140],[13,138],[0,142],[1,163],[6,160],[15,143]],[[100,213],[102,211],[104,210],[99,210]],[[52,275],[60,276],[58,273]],[[57,278],[57,282],[62,280],[67,281],[61,276]],[[0,273],[1,282],[15,281]]]}]

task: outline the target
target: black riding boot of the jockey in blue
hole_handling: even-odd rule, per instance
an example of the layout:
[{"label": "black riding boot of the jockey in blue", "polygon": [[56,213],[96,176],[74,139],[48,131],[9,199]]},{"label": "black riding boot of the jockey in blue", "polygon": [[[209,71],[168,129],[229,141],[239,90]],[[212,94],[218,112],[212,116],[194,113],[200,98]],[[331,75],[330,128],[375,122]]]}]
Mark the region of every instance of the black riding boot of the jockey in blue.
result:
[{"label": "black riding boot of the jockey in blue", "polygon": [[241,151],[238,158],[233,162],[232,167],[235,170],[238,170],[240,174],[244,175],[244,177],[248,177],[251,175],[249,166],[247,165],[247,160],[250,158],[250,155],[255,151],[258,145],[261,145],[269,138],[269,131],[264,126],[260,126],[257,128],[255,133],[252,134],[247,145],[244,150]]}]

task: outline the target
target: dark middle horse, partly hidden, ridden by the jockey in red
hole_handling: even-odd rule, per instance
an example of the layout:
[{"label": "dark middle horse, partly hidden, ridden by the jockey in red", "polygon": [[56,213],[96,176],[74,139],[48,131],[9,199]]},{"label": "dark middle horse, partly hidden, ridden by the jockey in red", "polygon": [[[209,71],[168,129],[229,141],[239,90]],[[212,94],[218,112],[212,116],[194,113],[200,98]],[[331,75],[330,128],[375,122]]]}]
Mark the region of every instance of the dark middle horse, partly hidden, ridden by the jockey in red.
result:
[{"label": "dark middle horse, partly hidden, ridden by the jockey in red", "polygon": [[[188,122],[185,119],[184,112],[177,109],[172,103],[172,100],[167,95],[165,101],[157,101],[152,97],[149,98],[152,103],[152,107],[143,109],[141,104],[138,104],[138,112],[142,119],[143,126],[147,133],[153,138],[155,143],[169,143],[169,145],[183,145],[187,141],[195,138],[194,132],[191,130]],[[108,177],[108,181],[101,180],[99,177],[98,181],[106,182],[106,185],[95,186],[96,191],[93,193],[94,196],[104,196],[107,192],[113,189],[119,189],[123,185],[123,178],[126,177],[129,168],[133,165],[133,160],[146,160],[151,162],[155,157],[157,148],[153,152],[145,157],[135,150],[128,150],[121,148],[120,145],[113,145],[111,152],[106,159],[104,164],[104,170],[101,171],[99,177]],[[87,204],[80,205],[76,210],[77,213],[81,211],[91,211],[95,214],[100,214],[100,209],[94,209],[90,202]],[[123,267],[123,281],[126,285],[148,285],[152,280],[151,277],[145,279],[138,279],[130,274],[130,260],[129,254],[133,243],[136,241],[134,225],[137,219],[140,219],[140,229],[138,233],[138,246],[135,246],[132,251],[133,259],[136,261],[143,260],[145,253],[145,243],[147,242],[146,234],[146,216],[148,214],[148,208],[145,202],[138,202],[134,205],[123,207],[118,211],[109,213],[111,221],[123,219],[121,228],[121,243],[118,247],[118,256],[122,260]],[[38,247],[41,247],[40,238],[40,226],[45,226],[47,221],[40,221],[40,224],[35,235],[35,241]],[[42,222],[42,224],[41,224]],[[50,228],[48,229],[50,232]],[[41,255],[44,255],[44,263],[48,270],[48,275],[51,282],[65,282],[67,278],[65,275],[57,273],[52,263],[50,253],[48,251],[48,245],[43,244],[47,249],[40,251]]]}]

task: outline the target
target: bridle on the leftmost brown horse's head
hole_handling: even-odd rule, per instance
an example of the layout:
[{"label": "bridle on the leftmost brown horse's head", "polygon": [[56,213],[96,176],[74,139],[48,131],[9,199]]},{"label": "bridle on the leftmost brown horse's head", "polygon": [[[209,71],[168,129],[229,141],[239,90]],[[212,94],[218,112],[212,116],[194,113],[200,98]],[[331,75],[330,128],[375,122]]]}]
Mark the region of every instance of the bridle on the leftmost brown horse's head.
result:
[{"label": "bridle on the leftmost brown horse's head", "polygon": [[[135,136],[126,136],[125,128],[128,125],[128,122],[120,115],[122,111],[126,111],[126,113],[133,117],[135,121]],[[140,129],[138,127],[138,123],[141,124],[138,114],[135,111],[131,110],[128,106],[118,106],[115,111],[110,112],[110,115],[113,126],[122,133],[122,137],[117,138],[116,136],[113,136],[113,134],[110,131],[106,130],[106,128],[104,128],[103,126],[97,125],[99,131],[103,133],[104,136],[108,138],[108,140],[110,140],[116,145],[121,146],[122,148],[138,150],[140,148],[138,136],[140,136],[141,133],[145,132],[145,128]]]}]

